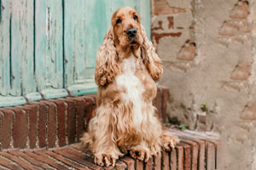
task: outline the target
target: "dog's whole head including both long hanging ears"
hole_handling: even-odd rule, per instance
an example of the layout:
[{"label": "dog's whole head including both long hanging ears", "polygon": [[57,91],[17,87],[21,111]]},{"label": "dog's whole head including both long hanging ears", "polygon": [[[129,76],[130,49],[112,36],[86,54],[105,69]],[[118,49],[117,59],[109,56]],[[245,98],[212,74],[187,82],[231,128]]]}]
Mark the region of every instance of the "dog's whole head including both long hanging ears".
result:
[{"label": "dog's whole head including both long hanging ears", "polygon": [[95,80],[99,87],[106,87],[113,82],[121,71],[120,55],[131,51],[139,52],[151,77],[159,80],[163,72],[161,61],[140,24],[140,16],[131,7],[121,7],[113,13],[111,26],[96,55]]}]

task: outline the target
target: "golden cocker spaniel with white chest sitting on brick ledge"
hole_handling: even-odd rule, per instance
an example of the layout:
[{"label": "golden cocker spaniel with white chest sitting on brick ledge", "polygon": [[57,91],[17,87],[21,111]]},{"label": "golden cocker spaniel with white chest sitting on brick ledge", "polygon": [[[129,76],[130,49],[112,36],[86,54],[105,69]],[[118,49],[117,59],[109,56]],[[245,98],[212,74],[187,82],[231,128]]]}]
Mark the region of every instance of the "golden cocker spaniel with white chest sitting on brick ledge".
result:
[{"label": "golden cocker spaniel with white chest sitting on brick ledge", "polygon": [[164,133],[152,105],[157,92],[154,81],[162,73],[162,63],[136,10],[116,10],[96,55],[96,111],[81,138],[96,164],[114,167],[128,151],[148,161],[161,148],[171,150],[178,142]]}]

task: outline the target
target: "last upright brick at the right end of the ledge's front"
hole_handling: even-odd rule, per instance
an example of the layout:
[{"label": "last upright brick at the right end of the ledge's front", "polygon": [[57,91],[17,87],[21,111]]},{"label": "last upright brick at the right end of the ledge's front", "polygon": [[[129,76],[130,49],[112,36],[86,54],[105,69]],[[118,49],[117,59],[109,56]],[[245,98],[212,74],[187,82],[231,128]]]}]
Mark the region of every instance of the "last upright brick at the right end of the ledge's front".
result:
[{"label": "last upright brick at the right end of the ledge's front", "polygon": [[215,147],[214,144],[207,142],[207,170],[215,169]]}]

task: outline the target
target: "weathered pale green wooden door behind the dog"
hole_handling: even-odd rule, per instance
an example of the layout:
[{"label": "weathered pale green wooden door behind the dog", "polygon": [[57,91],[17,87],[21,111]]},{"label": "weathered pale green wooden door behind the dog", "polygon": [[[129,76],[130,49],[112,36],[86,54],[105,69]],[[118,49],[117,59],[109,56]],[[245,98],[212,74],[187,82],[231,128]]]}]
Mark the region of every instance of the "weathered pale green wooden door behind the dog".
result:
[{"label": "weathered pale green wooden door behind the dog", "polygon": [[150,35],[150,0],[0,0],[0,106],[96,93],[96,51],[117,8]]}]

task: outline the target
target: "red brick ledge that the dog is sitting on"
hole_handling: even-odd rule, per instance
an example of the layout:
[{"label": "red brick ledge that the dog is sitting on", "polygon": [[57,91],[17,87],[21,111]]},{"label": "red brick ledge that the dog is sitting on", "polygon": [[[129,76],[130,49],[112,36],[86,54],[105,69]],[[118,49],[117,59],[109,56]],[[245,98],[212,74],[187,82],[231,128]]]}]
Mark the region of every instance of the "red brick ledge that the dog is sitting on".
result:
[{"label": "red brick ledge that the dog is sitting on", "polygon": [[[216,135],[166,128],[181,139],[172,151],[162,151],[160,156],[147,163],[130,156],[119,158],[114,169],[183,170],[217,169],[218,140]],[[90,151],[80,144],[70,144],[53,150],[5,150],[0,152],[3,169],[113,169],[99,167],[93,162]]]}]

